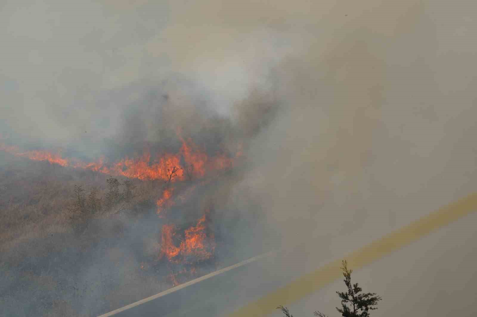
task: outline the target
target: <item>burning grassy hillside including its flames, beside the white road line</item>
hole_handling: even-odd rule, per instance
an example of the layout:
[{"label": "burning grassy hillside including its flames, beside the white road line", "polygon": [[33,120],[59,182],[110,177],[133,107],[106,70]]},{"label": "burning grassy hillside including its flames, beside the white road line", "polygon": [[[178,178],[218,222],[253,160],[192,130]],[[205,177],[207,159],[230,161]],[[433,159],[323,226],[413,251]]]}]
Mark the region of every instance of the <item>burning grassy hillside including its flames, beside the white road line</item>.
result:
[{"label": "burning grassy hillside including its flames, beside the white road line", "polygon": [[[99,315],[216,269],[220,245],[204,188],[233,164],[194,147],[188,140],[176,156],[79,165],[2,146],[0,315]],[[118,187],[111,175],[130,178]],[[24,303],[31,310],[21,315]]]}]

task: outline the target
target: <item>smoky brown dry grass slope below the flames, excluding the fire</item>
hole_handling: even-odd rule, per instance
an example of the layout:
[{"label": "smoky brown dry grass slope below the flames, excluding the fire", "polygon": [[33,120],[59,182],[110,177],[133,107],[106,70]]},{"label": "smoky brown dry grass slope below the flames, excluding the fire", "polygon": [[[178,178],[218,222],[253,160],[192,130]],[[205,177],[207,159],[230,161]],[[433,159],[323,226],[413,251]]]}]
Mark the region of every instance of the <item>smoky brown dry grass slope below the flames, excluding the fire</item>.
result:
[{"label": "smoky brown dry grass slope below the flames, excluding the fire", "polygon": [[[202,206],[227,191],[223,179],[216,182],[221,186],[210,179],[177,183],[182,205],[159,218],[164,183],[136,180],[131,202],[74,220],[74,186],[82,185],[86,196],[95,186],[104,197],[108,177],[0,152],[0,316],[97,316],[172,287],[169,275],[181,268],[158,257],[162,224],[195,223]],[[235,216],[216,220],[245,232]],[[218,232],[216,238],[227,240]],[[216,263],[234,249],[225,244],[230,240],[216,248]],[[216,266],[197,267],[197,274]]]}]

